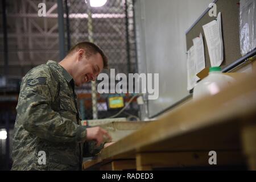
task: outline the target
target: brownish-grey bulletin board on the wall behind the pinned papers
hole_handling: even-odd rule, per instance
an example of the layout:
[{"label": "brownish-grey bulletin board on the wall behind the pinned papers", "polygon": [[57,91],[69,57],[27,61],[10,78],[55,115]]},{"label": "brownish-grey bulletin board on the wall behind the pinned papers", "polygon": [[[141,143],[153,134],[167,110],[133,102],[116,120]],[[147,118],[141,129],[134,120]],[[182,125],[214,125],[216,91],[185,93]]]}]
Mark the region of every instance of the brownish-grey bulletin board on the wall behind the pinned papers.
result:
[{"label": "brownish-grey bulletin board on the wall behind the pinned papers", "polygon": [[[242,57],[240,52],[239,31],[240,6],[239,0],[218,0],[215,1],[215,3],[217,5],[217,14],[218,12],[221,12],[222,39],[224,44],[224,61],[221,64],[221,68],[224,69]],[[202,33],[206,67],[210,67],[210,57],[203,25],[216,19],[216,17],[210,17],[208,11],[209,9],[205,11],[203,16],[201,16],[186,33],[187,50],[193,46],[192,40],[199,36],[200,32]]]}]

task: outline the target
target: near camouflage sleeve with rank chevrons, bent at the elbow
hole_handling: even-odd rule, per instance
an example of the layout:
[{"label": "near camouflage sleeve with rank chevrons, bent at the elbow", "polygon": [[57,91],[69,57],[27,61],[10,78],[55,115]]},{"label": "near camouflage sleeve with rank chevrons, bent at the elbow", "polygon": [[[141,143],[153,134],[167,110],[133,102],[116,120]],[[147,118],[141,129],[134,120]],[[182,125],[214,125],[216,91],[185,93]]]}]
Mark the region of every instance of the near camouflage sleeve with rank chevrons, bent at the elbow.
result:
[{"label": "near camouflage sleeve with rank chevrons, bent at the elbow", "polygon": [[47,67],[37,67],[27,73],[16,107],[19,122],[31,134],[51,142],[84,142],[86,127],[51,109],[57,88],[55,84]]}]

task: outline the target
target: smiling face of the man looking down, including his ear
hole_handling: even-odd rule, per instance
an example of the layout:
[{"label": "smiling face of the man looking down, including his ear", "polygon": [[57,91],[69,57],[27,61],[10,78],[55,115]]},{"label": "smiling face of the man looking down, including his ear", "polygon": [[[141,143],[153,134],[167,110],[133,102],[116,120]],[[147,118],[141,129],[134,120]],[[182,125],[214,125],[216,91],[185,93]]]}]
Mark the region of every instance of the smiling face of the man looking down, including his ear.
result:
[{"label": "smiling face of the man looking down, including his ear", "polygon": [[75,61],[73,70],[73,79],[76,86],[95,81],[104,67],[102,56],[100,53],[85,56],[84,49],[80,49],[77,53],[78,59]]}]

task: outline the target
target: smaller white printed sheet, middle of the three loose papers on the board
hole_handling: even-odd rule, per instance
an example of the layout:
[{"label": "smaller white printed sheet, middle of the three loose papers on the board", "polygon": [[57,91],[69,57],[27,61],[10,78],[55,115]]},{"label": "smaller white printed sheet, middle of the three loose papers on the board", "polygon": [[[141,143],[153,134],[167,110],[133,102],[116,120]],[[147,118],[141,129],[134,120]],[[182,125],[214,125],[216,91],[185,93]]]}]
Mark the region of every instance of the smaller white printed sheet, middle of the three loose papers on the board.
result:
[{"label": "smaller white printed sheet, middle of the three loose papers on the board", "polygon": [[195,64],[197,74],[205,68],[204,40],[201,33],[199,37],[193,39],[193,46],[195,49]]}]

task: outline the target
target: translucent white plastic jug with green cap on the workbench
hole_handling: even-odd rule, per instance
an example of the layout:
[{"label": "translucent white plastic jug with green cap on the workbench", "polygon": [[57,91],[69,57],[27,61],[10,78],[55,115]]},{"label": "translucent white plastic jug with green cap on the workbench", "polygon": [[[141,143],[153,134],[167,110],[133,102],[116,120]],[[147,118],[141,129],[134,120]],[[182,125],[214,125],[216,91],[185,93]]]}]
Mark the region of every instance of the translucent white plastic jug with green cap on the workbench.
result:
[{"label": "translucent white plastic jug with green cap on the workbench", "polygon": [[213,96],[234,81],[234,78],[224,75],[220,67],[212,67],[209,75],[196,84],[193,91],[193,100],[198,100],[205,96]]}]

